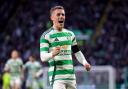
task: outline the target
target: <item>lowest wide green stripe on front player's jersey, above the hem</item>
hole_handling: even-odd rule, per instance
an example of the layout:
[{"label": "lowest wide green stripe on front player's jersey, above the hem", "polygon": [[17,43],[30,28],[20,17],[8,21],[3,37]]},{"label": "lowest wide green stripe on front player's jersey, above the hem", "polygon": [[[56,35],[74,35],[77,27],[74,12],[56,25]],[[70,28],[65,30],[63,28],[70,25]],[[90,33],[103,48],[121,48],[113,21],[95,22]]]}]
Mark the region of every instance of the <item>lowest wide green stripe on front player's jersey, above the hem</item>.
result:
[{"label": "lowest wide green stripe on front player's jersey, above the hem", "polygon": [[[56,70],[55,75],[64,75],[64,74],[74,74],[74,71],[72,69],[69,70]],[[53,71],[48,72],[49,76],[53,75]]]}]

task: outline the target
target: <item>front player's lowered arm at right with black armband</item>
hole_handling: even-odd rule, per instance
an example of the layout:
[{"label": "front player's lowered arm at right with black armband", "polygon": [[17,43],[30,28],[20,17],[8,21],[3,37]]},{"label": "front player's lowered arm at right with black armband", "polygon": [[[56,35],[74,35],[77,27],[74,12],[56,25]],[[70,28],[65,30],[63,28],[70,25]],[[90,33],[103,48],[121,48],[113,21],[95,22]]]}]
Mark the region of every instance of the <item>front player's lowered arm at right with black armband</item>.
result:
[{"label": "front player's lowered arm at right with black armband", "polygon": [[91,69],[91,65],[87,62],[86,58],[84,57],[83,53],[81,52],[81,50],[79,49],[77,42],[76,42],[76,38],[75,35],[73,34],[73,40],[72,40],[72,51],[75,54],[76,59],[84,65],[85,69],[87,71],[90,71]]}]

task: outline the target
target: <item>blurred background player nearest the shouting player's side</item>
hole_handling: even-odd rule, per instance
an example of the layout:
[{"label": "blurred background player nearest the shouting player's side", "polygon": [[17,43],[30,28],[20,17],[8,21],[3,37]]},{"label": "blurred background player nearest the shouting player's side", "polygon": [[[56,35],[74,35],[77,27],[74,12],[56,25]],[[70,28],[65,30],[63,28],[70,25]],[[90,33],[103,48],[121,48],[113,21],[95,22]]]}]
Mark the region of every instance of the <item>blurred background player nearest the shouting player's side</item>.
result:
[{"label": "blurred background player nearest the shouting player's side", "polygon": [[24,68],[27,72],[27,89],[43,89],[43,82],[41,81],[41,75],[43,70],[41,64],[36,60],[35,55],[29,56],[29,61],[26,62]]}]

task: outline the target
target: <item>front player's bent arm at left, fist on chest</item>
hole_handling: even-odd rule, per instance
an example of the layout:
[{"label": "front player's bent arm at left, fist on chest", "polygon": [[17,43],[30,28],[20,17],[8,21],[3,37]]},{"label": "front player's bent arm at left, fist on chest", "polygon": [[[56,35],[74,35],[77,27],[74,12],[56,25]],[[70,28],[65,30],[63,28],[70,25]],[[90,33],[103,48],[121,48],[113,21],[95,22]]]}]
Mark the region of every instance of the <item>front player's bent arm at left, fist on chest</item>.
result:
[{"label": "front player's bent arm at left, fist on chest", "polygon": [[50,60],[60,53],[60,47],[56,47],[51,52],[49,52],[49,45],[48,39],[42,36],[40,38],[40,58],[43,62]]}]

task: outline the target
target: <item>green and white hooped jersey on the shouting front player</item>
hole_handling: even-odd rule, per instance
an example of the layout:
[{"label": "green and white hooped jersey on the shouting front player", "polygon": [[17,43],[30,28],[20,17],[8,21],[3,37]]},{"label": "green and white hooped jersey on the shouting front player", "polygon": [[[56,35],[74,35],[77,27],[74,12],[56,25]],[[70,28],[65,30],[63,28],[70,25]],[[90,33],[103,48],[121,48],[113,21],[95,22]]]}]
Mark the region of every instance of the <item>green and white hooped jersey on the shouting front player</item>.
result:
[{"label": "green and white hooped jersey on the shouting front player", "polygon": [[58,32],[52,27],[41,36],[41,53],[49,53],[54,47],[61,46],[61,52],[54,59],[49,59],[48,61],[50,84],[55,80],[76,79],[71,55],[71,46],[75,44],[77,43],[74,33],[67,29]]}]

